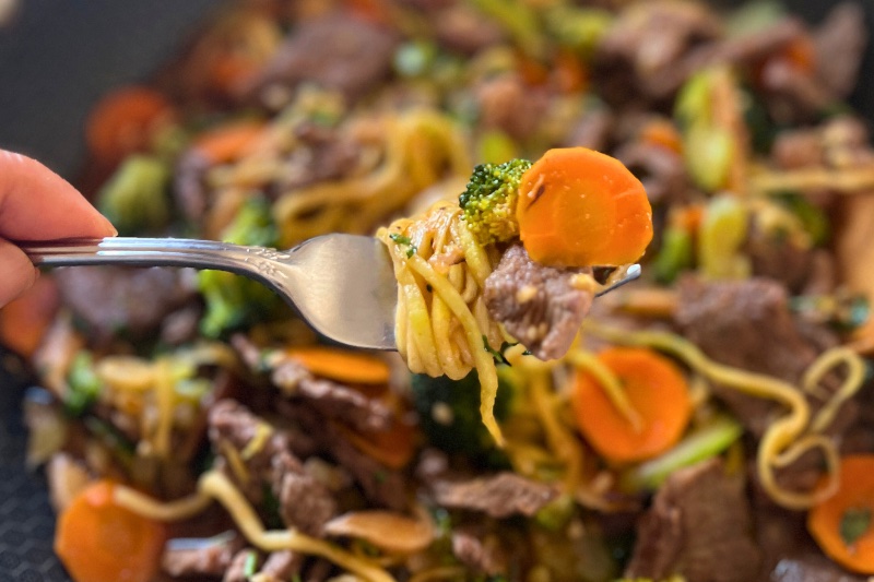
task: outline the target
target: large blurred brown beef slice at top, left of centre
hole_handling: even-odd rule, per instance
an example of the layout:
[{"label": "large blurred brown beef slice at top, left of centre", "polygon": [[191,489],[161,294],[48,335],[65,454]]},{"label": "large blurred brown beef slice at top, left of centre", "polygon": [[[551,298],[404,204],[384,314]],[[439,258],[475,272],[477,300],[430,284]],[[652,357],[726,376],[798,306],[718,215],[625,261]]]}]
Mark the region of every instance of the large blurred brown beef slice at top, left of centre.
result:
[{"label": "large blurred brown beef slice at top, left of centre", "polygon": [[270,106],[274,87],[311,82],[354,102],[388,76],[395,45],[391,32],[374,24],[344,14],[321,16],[291,32],[247,93]]}]

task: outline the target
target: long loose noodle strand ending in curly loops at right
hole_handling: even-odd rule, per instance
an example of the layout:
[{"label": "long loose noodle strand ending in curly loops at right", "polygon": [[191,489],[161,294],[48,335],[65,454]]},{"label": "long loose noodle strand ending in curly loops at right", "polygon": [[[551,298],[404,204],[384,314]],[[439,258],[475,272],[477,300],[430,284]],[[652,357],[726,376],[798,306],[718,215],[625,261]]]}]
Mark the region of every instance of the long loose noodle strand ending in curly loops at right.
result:
[{"label": "long loose noodle strand ending in curly loops at right", "polygon": [[[814,361],[805,375],[805,387],[814,385],[836,364],[847,363],[849,373],[831,403],[823,409],[817,424],[808,426],[811,411],[801,390],[792,384],[760,373],[748,372],[718,364],[687,340],[666,332],[626,331],[588,321],[583,329],[593,335],[616,344],[646,346],[665,352],[685,363],[694,371],[709,381],[732,388],[745,394],[776,401],[789,412],[771,423],[759,443],[756,459],[758,476],[764,489],[779,504],[790,509],[806,509],[827,499],[838,487],[839,456],[835,444],[818,433],[834,416],[834,411],[861,385],[863,365],[859,356],[846,348],[825,352]],[[807,432],[810,431],[810,432]],[[828,482],[825,487],[811,492],[800,492],[782,488],[775,470],[786,467],[812,449],[823,452]]]}]

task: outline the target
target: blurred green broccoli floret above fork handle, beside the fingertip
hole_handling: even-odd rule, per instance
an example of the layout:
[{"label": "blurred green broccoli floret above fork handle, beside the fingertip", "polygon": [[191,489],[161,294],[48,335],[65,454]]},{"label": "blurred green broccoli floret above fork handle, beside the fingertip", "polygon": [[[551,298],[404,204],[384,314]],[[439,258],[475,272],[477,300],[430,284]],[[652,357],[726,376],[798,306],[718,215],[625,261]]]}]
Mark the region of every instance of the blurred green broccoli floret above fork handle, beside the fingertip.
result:
[{"label": "blurred green broccoli floret above fork handle, beside the fingertip", "polygon": [[160,158],[129,156],[101,190],[97,205],[122,235],[161,231],[168,223],[170,170]]}]

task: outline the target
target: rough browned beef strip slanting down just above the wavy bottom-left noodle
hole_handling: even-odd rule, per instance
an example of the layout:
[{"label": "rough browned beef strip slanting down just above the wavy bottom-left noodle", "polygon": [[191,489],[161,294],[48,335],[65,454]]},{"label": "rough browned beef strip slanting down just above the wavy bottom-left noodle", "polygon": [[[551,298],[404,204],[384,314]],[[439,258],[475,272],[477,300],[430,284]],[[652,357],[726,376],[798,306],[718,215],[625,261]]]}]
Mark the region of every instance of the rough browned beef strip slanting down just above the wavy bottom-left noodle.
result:
[{"label": "rough browned beef strip slanting down just above the wavy bottom-left noodle", "polygon": [[263,488],[269,487],[279,499],[280,514],[286,525],[320,535],[324,523],[336,513],[335,500],[292,454],[282,432],[273,432],[260,449],[244,455],[246,447],[263,430],[273,429],[236,401],[217,402],[210,412],[209,436],[213,449],[221,452],[233,448],[245,464],[248,478],[240,483],[233,465],[223,458],[220,465],[224,465],[246,496],[258,503],[263,499]]}]

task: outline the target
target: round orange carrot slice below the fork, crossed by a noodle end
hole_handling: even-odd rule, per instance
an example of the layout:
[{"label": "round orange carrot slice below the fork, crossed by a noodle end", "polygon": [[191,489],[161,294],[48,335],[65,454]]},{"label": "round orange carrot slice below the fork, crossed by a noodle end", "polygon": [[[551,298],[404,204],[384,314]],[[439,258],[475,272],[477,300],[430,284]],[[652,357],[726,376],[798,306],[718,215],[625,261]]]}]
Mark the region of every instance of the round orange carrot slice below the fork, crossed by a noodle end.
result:
[{"label": "round orange carrot slice below the fork, crossed by a noodle end", "polygon": [[688,387],[677,367],[643,347],[607,348],[598,359],[618,378],[637,426],[593,376],[579,370],[571,392],[574,416],[595,451],[613,463],[631,463],[674,446],[692,415]]}]

